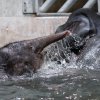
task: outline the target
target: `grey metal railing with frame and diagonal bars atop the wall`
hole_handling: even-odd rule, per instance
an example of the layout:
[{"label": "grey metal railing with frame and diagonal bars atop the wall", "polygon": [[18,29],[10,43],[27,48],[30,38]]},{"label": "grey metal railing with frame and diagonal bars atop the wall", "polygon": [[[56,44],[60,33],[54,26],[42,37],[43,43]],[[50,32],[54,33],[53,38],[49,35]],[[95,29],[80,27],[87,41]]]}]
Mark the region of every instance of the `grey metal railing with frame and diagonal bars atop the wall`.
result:
[{"label": "grey metal railing with frame and diagonal bars atop the wall", "polygon": [[[62,0],[62,1],[64,1],[64,3],[59,8],[57,8],[56,12],[49,12],[49,9],[51,9],[53,5],[56,6],[56,2],[59,2],[59,0],[23,0],[24,4],[23,12],[26,14],[36,13],[36,15],[39,16],[50,16],[50,15],[64,16],[64,15],[69,15],[70,9],[72,9],[73,6],[77,6],[77,3],[79,2],[82,3],[82,0]],[[80,8],[83,7],[92,9],[96,5],[97,11],[100,12],[100,0],[83,0],[83,1],[85,1],[85,3],[83,3],[83,5],[81,5],[80,3],[79,4],[81,5]]]}]

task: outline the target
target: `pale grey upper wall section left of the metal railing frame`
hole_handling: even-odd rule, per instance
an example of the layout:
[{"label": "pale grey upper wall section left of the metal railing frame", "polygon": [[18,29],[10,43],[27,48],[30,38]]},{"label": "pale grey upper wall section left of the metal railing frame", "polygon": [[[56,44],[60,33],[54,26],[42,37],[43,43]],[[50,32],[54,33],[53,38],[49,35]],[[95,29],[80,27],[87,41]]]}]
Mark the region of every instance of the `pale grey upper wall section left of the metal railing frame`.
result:
[{"label": "pale grey upper wall section left of the metal railing frame", "polygon": [[0,17],[23,16],[22,0],[0,0]]}]

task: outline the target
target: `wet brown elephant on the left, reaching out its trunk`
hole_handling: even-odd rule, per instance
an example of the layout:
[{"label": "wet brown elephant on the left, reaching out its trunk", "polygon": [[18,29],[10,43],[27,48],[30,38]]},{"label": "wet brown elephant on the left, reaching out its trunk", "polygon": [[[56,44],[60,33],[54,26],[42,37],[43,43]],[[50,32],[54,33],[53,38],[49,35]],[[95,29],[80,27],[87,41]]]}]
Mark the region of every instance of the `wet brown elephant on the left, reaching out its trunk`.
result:
[{"label": "wet brown elephant on the left, reaching out its trunk", "polygon": [[4,68],[9,75],[35,72],[43,61],[42,50],[68,34],[65,31],[60,34],[10,43],[0,48],[0,67]]}]

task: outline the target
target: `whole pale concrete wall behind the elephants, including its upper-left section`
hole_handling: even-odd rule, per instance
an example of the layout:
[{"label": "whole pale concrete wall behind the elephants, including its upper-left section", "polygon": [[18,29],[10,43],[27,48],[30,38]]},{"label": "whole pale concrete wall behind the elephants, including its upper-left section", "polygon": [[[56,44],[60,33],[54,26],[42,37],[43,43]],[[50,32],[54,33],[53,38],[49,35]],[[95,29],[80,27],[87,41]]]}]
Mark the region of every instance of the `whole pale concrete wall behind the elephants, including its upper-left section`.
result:
[{"label": "whole pale concrete wall behind the elephants, including its upper-left section", "polygon": [[22,13],[22,0],[0,0],[0,47],[54,33],[66,17],[33,17]]}]

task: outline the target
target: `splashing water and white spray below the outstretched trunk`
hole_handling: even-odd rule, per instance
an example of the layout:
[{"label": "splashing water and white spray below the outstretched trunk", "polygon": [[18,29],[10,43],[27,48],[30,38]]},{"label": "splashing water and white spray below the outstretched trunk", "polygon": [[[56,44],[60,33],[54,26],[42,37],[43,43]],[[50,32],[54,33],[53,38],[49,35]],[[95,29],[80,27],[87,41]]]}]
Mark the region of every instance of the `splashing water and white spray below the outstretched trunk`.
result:
[{"label": "splashing water and white spray below the outstretched trunk", "polygon": [[[79,39],[76,40],[76,38],[74,38],[74,40],[76,43],[79,42]],[[44,58],[44,64],[41,69],[38,70],[40,77],[64,75],[65,73],[70,73],[71,69],[74,69],[71,70],[71,72],[78,69],[76,65],[77,56],[70,51],[70,45],[67,47],[65,42],[65,39],[63,39],[46,48],[45,51],[47,51],[47,53]]]}]

